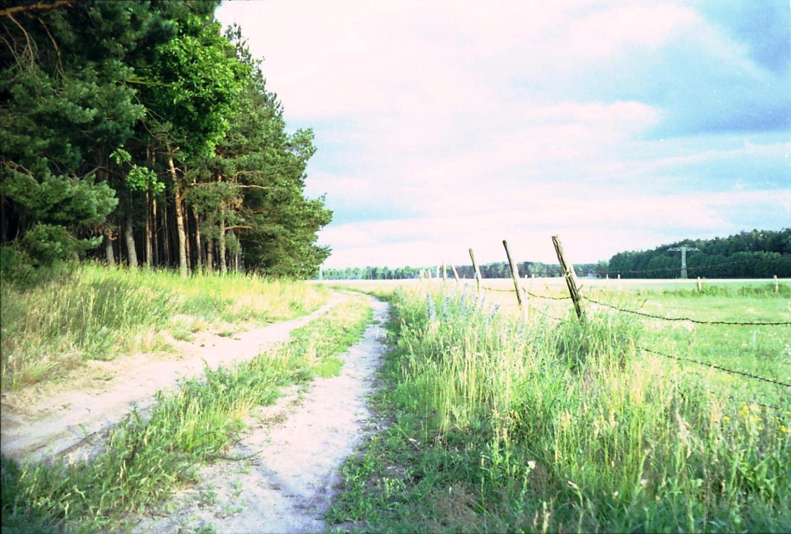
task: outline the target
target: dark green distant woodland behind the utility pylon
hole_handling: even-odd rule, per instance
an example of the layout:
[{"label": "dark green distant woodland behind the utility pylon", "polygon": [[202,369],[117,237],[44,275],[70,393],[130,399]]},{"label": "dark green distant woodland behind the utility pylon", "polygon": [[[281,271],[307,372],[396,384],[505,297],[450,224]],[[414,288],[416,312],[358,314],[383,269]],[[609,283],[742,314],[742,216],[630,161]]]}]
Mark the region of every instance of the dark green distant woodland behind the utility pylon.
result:
[{"label": "dark green distant woodland behind the utility pylon", "polygon": [[609,261],[610,276],[622,278],[679,278],[682,245],[699,248],[687,252],[691,278],[791,277],[791,228],[752,230],[729,237],[683,240],[652,250],[619,252]]}]

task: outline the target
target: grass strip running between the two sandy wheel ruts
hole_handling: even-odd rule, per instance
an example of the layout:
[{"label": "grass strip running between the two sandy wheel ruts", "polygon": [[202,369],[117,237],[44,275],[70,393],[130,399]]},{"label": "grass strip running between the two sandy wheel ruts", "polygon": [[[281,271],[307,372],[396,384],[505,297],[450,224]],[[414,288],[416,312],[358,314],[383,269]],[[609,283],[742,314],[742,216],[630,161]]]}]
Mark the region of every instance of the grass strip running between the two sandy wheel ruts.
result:
[{"label": "grass strip running between the two sandy wheel ruts", "polygon": [[3,532],[94,531],[119,528],[228,447],[256,405],[280,388],[338,373],[338,355],[360,338],[371,309],[363,297],[336,306],[293,331],[289,343],[157,396],[149,418],[132,412],[90,462],[18,465],[2,460]]}]

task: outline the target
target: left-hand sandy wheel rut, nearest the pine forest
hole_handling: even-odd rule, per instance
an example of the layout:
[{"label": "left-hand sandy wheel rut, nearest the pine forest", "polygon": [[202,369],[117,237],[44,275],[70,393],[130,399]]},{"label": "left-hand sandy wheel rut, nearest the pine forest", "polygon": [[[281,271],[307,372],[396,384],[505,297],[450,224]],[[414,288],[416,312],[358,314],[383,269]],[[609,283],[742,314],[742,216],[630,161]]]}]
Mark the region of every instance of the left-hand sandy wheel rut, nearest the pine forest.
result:
[{"label": "left-hand sandy wheel rut, nearest the pine forest", "polygon": [[[48,460],[54,456],[88,456],[102,435],[132,407],[145,413],[154,394],[185,377],[204,372],[204,365],[219,365],[254,358],[263,350],[289,339],[290,332],[346,300],[333,294],[326,305],[306,316],[263,328],[238,332],[233,338],[203,335],[195,343],[177,343],[178,354],[153,358],[137,354],[112,362],[89,362],[104,377],[88,388],[9,393],[0,403],[2,454],[17,460]],[[204,364],[205,362],[205,364]]]}]

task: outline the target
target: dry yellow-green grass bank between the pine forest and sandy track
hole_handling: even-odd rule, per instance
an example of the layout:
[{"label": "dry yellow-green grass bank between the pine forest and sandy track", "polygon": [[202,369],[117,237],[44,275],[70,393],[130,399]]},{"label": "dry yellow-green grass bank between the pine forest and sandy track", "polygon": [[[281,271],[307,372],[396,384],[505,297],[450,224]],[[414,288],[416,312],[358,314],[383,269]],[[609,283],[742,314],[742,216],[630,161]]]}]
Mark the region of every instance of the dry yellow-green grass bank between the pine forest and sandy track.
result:
[{"label": "dry yellow-green grass bank between the pine forest and sandy track", "polygon": [[86,264],[37,286],[3,282],[0,366],[5,390],[59,377],[85,359],[166,349],[222,324],[285,320],[328,292],[304,282],[244,275],[127,271]]}]

